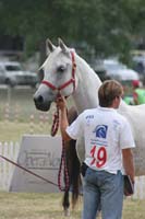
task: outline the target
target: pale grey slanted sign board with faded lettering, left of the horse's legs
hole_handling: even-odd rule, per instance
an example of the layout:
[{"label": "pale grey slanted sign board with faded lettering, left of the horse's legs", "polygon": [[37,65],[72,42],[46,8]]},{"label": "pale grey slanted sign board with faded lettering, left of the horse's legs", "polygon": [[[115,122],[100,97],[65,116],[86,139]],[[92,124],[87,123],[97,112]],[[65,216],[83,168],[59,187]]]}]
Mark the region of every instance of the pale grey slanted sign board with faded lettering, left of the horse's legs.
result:
[{"label": "pale grey slanted sign board with faded lettering, left of the horse's legs", "polygon": [[62,141],[60,136],[55,138],[45,135],[23,136],[17,155],[17,163],[34,174],[48,180],[50,183],[20,168],[15,168],[11,177],[9,191],[33,193],[59,192],[57,184],[61,151]]}]

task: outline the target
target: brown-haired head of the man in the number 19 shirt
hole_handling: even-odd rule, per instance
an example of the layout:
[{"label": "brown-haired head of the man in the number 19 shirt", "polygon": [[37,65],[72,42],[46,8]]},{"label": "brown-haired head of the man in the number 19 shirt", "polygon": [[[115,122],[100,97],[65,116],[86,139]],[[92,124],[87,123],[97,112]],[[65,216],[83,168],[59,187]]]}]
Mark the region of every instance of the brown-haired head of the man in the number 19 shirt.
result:
[{"label": "brown-haired head of the man in the number 19 shirt", "polygon": [[104,81],[98,91],[99,105],[102,107],[119,107],[123,94],[122,85],[116,80]]}]

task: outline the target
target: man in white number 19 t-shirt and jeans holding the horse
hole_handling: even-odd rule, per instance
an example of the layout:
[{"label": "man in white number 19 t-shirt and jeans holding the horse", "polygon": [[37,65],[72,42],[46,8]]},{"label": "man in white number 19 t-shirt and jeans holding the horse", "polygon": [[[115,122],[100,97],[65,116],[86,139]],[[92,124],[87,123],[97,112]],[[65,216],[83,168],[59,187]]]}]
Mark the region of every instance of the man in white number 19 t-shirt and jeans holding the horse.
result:
[{"label": "man in white number 19 t-shirt and jeans holding the horse", "polygon": [[88,168],[83,182],[83,219],[95,219],[100,205],[102,219],[121,219],[122,159],[125,173],[134,182],[131,148],[135,145],[128,120],[117,112],[122,94],[120,83],[105,81],[98,91],[99,106],[84,111],[70,126],[64,99],[57,101],[63,140],[85,139],[84,162]]}]

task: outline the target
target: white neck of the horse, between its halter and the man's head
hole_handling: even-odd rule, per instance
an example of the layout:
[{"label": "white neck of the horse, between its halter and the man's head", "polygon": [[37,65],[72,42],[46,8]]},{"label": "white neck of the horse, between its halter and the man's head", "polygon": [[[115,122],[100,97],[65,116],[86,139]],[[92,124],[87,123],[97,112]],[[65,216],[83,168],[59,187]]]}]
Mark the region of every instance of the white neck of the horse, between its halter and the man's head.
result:
[{"label": "white neck of the horse, between its halter and the man's head", "polygon": [[73,100],[78,113],[86,108],[98,106],[98,89],[101,84],[94,70],[76,55],[77,88],[73,94]]}]

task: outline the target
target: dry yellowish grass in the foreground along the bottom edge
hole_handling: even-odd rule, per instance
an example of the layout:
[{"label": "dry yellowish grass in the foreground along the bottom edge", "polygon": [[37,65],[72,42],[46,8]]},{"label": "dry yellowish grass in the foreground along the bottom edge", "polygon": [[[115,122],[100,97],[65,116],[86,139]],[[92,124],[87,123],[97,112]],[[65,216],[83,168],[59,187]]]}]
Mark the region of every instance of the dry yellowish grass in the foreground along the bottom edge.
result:
[{"label": "dry yellowish grass in the foreground along the bottom edge", "polygon": [[[24,194],[0,192],[0,219],[65,219],[61,194]],[[124,200],[123,219],[144,219],[145,200]],[[80,219],[82,198],[69,219]],[[101,217],[99,217],[100,219]]]}]

